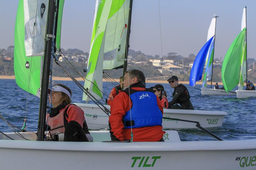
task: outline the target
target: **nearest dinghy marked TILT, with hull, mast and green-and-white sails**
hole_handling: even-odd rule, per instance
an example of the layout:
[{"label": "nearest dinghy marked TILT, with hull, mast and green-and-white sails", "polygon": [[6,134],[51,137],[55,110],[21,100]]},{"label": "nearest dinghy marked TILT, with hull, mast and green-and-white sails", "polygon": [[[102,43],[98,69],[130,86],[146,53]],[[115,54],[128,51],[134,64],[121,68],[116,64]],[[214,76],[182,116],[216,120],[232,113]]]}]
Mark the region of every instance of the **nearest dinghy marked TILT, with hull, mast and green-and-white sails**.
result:
[{"label": "nearest dinghy marked TILT, with hull, mast and green-and-white sails", "polygon": [[[96,8],[112,2],[116,1],[101,0]],[[14,71],[22,89],[34,95],[40,92],[38,127],[37,135],[0,131],[0,169],[255,169],[256,140],[181,142],[176,131],[166,131],[166,142],[102,142],[110,140],[109,131],[91,131],[94,142],[45,141],[46,113],[51,106],[47,104],[50,70],[58,55],[53,55],[56,47],[60,47],[62,9],[63,1],[59,0],[19,2],[14,49],[14,66],[18,68]],[[199,123],[196,126],[201,128]]]}]

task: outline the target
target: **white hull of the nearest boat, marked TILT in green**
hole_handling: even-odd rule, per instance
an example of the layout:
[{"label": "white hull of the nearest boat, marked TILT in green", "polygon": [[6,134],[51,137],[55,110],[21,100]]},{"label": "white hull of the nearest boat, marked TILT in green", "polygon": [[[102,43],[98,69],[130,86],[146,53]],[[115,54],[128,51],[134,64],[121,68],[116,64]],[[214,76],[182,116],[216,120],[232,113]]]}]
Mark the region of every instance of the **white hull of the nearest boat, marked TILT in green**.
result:
[{"label": "white hull of the nearest boat, marked TILT in green", "polygon": [[[91,134],[94,138],[103,136],[103,140],[109,139],[108,131]],[[14,137],[15,134],[7,135]],[[35,138],[35,134],[31,135],[34,136],[31,138]],[[108,138],[104,138],[107,135]],[[3,140],[4,138],[0,134],[0,169],[6,170],[255,169],[255,139],[110,143]]]}]

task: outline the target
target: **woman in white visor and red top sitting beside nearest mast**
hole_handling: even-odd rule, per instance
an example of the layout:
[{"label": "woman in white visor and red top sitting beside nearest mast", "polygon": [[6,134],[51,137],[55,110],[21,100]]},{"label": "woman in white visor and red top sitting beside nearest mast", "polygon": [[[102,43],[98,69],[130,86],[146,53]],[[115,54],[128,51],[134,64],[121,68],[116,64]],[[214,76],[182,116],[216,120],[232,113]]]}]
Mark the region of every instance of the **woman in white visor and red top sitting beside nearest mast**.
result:
[{"label": "woman in white visor and red top sitting beside nearest mast", "polygon": [[48,129],[50,139],[59,141],[58,135],[64,134],[64,141],[92,142],[92,136],[88,131],[84,118],[84,111],[71,104],[71,90],[62,84],[52,87],[50,101],[53,108],[48,114]]}]

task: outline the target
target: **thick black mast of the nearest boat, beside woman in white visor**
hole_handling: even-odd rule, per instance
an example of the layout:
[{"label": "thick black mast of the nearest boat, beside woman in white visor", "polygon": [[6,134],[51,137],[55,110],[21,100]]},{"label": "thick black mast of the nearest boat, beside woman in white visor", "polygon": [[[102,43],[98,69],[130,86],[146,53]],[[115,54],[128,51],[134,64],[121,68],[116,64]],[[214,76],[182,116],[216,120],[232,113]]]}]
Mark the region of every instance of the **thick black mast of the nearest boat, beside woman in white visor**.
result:
[{"label": "thick black mast of the nearest boat, beside woman in white visor", "polygon": [[52,56],[52,41],[54,37],[54,14],[55,14],[55,1],[49,1],[49,10],[47,15],[47,28],[46,28],[46,38],[45,41],[45,51],[44,51],[44,66],[42,75],[42,85],[41,85],[41,98],[40,98],[40,108],[39,108],[39,118],[37,127],[37,140],[44,140],[45,131],[45,117],[47,109],[48,100],[48,88],[49,88],[49,77],[50,77],[50,66],[51,66],[51,56]]}]

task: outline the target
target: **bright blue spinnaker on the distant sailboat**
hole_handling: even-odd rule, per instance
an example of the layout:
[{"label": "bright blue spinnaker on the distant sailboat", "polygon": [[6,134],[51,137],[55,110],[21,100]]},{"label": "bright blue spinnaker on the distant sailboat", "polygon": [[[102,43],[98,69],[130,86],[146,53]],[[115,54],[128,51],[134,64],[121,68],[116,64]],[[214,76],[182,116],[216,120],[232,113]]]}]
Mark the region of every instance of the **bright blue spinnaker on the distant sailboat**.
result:
[{"label": "bright blue spinnaker on the distant sailboat", "polygon": [[204,63],[207,56],[207,52],[211,47],[212,38],[208,40],[204,46],[201,48],[199,53],[196,55],[196,59],[194,61],[193,67],[191,69],[190,77],[189,77],[189,85],[194,86],[196,81],[202,79],[202,74],[204,70]]}]

